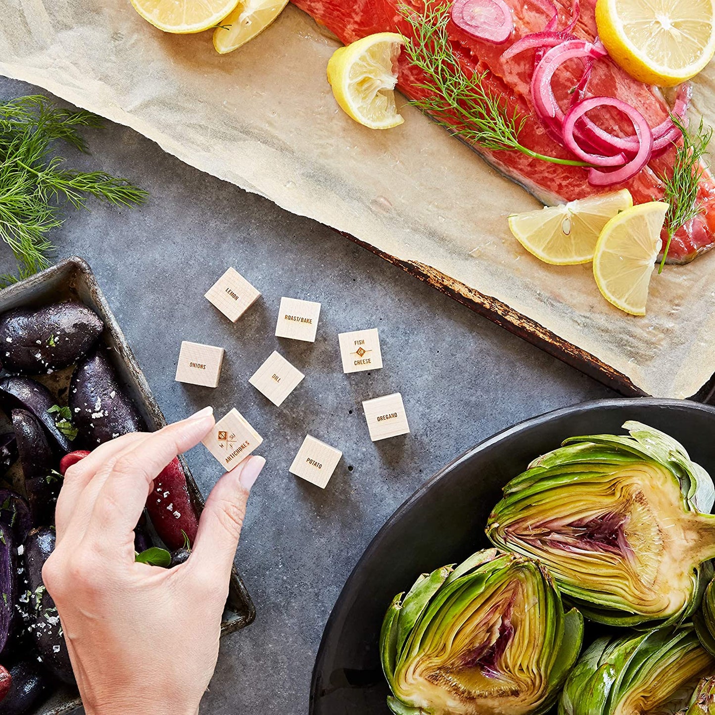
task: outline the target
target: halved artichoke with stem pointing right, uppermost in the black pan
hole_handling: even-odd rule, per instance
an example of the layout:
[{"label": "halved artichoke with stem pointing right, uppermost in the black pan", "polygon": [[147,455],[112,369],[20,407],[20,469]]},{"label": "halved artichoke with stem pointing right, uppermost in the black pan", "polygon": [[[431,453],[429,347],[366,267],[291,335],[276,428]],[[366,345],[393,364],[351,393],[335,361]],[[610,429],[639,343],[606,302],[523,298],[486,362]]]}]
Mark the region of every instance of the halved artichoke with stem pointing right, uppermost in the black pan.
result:
[{"label": "halved artichoke with stem pointing right, uppermost in the black pan", "polygon": [[487,534],[537,558],[564,596],[601,623],[665,626],[693,613],[715,556],[713,483],[676,440],[574,437],[504,488]]}]

